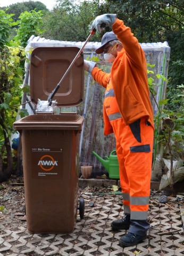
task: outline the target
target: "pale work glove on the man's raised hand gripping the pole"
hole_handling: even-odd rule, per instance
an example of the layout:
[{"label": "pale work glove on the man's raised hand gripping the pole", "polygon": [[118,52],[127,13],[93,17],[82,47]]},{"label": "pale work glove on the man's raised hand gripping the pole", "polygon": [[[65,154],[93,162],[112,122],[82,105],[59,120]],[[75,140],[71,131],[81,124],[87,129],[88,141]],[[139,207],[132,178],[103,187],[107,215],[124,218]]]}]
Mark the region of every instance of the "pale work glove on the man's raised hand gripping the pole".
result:
[{"label": "pale work glove on the man's raised hand gripping the pole", "polygon": [[98,31],[98,33],[101,33],[101,31],[105,29],[104,25],[112,28],[112,25],[114,24],[115,20],[116,20],[116,14],[99,15],[93,21],[91,25],[91,30],[94,30],[95,28]]}]

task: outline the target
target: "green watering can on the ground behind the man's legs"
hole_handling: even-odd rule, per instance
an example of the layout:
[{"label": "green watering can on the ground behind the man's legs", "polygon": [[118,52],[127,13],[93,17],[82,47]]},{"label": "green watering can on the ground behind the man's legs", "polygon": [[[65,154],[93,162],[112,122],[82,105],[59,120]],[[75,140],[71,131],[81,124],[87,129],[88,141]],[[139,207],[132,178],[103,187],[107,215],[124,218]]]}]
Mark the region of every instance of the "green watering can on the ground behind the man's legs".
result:
[{"label": "green watering can on the ground behind the man's legs", "polygon": [[102,157],[98,156],[94,151],[92,152],[98,160],[102,163],[102,165],[105,167],[105,170],[108,172],[108,177],[110,179],[119,179],[119,163],[118,163],[118,157],[116,155],[116,150],[112,150],[109,157],[105,156],[107,160],[104,160]]}]

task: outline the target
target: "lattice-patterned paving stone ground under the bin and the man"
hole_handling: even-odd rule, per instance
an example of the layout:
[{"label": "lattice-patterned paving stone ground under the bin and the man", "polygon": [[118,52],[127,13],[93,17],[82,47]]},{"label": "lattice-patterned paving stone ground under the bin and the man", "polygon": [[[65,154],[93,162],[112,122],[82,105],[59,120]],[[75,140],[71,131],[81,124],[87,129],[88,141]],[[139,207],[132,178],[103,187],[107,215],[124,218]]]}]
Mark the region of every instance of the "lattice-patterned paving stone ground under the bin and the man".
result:
[{"label": "lattice-patterned paving stone ground under the bin and the man", "polygon": [[[147,239],[123,249],[118,241],[126,231],[110,227],[113,220],[123,216],[122,195],[80,193],[85,199],[85,216],[81,220],[77,217],[72,234],[30,234],[18,210],[9,210],[11,200],[4,202],[7,212],[0,215],[0,256],[184,255],[184,208],[178,198],[169,197],[168,203],[160,203],[160,195],[152,193]],[[94,207],[89,206],[91,202]],[[23,212],[23,199],[14,199],[13,203]]]}]

